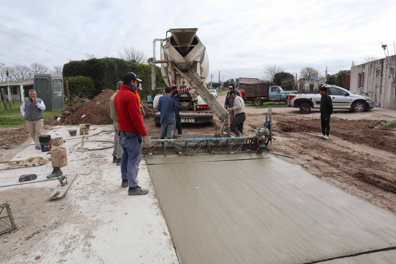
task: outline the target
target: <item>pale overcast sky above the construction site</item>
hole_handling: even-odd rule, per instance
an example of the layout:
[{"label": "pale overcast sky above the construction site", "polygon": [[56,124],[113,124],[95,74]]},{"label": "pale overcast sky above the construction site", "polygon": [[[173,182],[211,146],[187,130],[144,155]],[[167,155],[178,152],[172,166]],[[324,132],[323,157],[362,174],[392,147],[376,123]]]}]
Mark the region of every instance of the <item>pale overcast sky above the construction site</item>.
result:
[{"label": "pale overcast sky above the construction site", "polygon": [[154,38],[164,38],[169,28],[196,27],[209,55],[213,81],[219,70],[224,80],[261,78],[266,64],[283,66],[293,74],[305,66],[324,73],[328,66],[333,74],[350,69],[352,61],[364,63],[367,55],[384,57],[381,42],[391,46],[396,40],[392,0],[29,0],[2,1],[1,14],[1,25],[68,48],[0,26],[0,63],[7,66],[30,65],[34,60],[50,67],[63,65],[70,58],[86,59],[84,53],[116,57],[129,45],[152,57]]}]

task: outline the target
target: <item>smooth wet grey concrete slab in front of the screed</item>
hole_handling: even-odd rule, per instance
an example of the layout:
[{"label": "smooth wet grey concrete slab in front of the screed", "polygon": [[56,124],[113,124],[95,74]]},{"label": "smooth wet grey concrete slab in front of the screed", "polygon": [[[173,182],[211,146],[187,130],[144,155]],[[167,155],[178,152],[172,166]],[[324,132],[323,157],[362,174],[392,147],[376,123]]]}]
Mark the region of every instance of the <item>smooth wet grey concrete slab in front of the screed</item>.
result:
[{"label": "smooth wet grey concrete slab in front of the screed", "polygon": [[182,263],[300,264],[396,246],[394,213],[298,165],[189,158],[148,165]]}]

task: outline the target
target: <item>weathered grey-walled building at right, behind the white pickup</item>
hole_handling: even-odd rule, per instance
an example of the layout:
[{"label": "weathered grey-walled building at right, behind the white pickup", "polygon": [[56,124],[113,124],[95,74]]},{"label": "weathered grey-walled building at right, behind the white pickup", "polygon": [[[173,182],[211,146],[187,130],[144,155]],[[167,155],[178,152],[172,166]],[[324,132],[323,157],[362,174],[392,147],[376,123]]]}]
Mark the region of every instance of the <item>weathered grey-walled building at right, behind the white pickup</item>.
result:
[{"label": "weathered grey-walled building at right, behind the white pickup", "polygon": [[390,65],[386,58],[352,66],[350,70],[350,91],[353,93],[369,93],[374,106],[396,110],[395,74],[396,55],[390,56]]}]

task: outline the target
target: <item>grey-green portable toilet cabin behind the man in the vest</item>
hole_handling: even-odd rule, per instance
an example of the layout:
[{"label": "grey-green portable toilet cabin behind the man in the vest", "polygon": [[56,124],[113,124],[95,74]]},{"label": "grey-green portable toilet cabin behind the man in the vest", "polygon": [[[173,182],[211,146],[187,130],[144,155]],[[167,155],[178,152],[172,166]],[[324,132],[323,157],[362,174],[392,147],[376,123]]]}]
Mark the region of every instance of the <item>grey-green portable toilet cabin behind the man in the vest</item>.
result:
[{"label": "grey-green portable toilet cabin behind the man in the vest", "polygon": [[46,111],[63,110],[65,92],[63,77],[59,74],[34,74],[33,89],[37,97],[44,101]]}]

